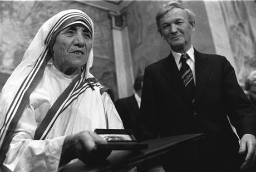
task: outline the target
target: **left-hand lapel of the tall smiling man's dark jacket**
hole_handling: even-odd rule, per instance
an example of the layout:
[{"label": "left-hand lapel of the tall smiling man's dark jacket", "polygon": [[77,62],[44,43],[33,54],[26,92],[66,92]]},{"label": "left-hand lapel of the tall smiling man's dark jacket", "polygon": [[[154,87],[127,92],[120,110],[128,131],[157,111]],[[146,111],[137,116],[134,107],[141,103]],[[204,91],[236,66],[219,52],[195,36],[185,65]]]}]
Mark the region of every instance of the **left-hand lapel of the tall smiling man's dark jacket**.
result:
[{"label": "left-hand lapel of the tall smiling man's dark jacket", "polygon": [[161,72],[164,74],[165,78],[168,79],[169,83],[175,88],[179,95],[184,98],[184,100],[191,104],[189,98],[185,95],[185,86],[183,80],[181,79],[180,71],[174,60],[173,54],[165,58],[161,63]]}]

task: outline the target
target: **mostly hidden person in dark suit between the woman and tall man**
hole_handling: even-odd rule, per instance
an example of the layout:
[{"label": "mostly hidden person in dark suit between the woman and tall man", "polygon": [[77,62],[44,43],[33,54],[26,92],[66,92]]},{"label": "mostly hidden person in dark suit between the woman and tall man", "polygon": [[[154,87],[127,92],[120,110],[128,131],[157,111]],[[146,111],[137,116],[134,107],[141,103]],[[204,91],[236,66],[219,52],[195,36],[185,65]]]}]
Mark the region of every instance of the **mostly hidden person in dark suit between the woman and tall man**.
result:
[{"label": "mostly hidden person in dark suit between the woman and tall man", "polygon": [[138,118],[140,111],[140,101],[141,101],[141,89],[142,89],[143,75],[139,75],[134,82],[135,93],[130,97],[122,98],[116,100],[115,107],[119,113],[124,128],[131,129],[134,136],[137,138],[138,130]]}]

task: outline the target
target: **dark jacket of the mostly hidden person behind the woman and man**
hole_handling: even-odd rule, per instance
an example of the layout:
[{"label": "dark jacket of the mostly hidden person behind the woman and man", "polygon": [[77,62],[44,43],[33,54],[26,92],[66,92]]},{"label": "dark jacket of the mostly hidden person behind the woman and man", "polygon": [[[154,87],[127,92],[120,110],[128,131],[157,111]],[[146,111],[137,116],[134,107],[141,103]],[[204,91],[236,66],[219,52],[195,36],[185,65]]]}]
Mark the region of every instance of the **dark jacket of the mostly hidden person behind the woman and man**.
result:
[{"label": "dark jacket of the mostly hidden person behind the woman and man", "polygon": [[135,95],[116,100],[115,107],[119,113],[125,129],[131,129],[137,138],[139,106],[135,99]]}]

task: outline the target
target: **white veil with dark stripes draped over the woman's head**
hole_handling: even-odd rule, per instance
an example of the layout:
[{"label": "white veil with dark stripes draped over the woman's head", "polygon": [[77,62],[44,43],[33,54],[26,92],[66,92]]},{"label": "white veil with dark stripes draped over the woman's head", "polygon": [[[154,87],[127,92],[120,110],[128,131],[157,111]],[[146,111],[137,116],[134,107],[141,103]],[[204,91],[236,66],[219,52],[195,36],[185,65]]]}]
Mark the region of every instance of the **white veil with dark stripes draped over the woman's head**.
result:
[{"label": "white veil with dark stripes draped over the woman's head", "polygon": [[[2,153],[8,148],[14,129],[28,103],[29,95],[42,78],[49,60],[49,45],[52,41],[52,37],[56,32],[77,23],[83,24],[83,26],[89,29],[93,40],[93,22],[85,13],[76,9],[70,9],[56,14],[48,19],[39,29],[35,38],[24,53],[22,62],[13,71],[4,85],[0,99],[0,146]],[[92,62],[93,50],[91,49],[86,67],[81,67],[81,72],[74,81],[75,87],[84,84],[88,78],[93,77],[89,71],[92,67]],[[88,81],[87,84],[91,85]],[[92,89],[93,86],[95,86],[95,84],[91,86]],[[99,84],[96,84],[96,86],[99,86]],[[63,102],[72,102],[73,99],[76,99],[77,97],[71,98],[74,92],[75,90],[73,89]],[[82,91],[77,89],[76,94],[77,92]],[[71,103],[66,103],[66,106],[70,104]],[[0,157],[1,156],[0,153]]]}]

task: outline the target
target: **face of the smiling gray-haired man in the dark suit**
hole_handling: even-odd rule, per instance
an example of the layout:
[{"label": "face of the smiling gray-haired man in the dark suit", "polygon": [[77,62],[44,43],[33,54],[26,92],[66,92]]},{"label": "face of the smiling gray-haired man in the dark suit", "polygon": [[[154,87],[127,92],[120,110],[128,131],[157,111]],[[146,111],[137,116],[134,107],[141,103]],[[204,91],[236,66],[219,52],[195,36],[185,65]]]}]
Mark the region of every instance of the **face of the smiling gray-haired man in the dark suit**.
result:
[{"label": "face of the smiling gray-haired man in the dark suit", "polygon": [[190,24],[188,14],[183,9],[173,8],[159,21],[161,36],[175,52],[186,52],[191,45],[191,32],[195,24]]}]

